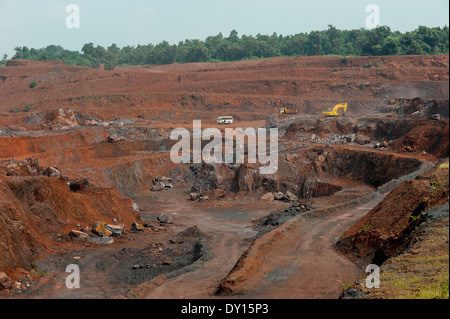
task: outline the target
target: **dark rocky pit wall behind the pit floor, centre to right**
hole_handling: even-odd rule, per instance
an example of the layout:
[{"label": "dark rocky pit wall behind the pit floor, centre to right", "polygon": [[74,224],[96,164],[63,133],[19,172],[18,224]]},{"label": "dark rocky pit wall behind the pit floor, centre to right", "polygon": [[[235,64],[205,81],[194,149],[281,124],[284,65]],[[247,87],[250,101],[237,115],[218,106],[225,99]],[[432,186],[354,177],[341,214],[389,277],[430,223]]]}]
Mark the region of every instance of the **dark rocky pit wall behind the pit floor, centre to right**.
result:
[{"label": "dark rocky pit wall behind the pit floor, centre to right", "polygon": [[186,177],[197,192],[223,189],[235,193],[290,191],[299,198],[332,195],[342,189],[339,179],[376,188],[417,170],[415,158],[364,149],[327,145],[307,147],[279,155],[276,174],[261,175],[258,164],[197,164]]}]

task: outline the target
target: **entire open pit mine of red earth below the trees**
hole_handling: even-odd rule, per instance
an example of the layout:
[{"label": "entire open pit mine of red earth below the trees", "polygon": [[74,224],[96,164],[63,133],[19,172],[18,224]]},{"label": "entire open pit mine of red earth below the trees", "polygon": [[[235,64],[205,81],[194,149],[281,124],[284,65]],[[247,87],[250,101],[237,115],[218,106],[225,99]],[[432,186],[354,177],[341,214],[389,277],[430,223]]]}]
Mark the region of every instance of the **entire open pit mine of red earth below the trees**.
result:
[{"label": "entire open pit mine of red earth below the trees", "polygon": [[9,60],[0,298],[448,298],[448,156],[448,54]]}]

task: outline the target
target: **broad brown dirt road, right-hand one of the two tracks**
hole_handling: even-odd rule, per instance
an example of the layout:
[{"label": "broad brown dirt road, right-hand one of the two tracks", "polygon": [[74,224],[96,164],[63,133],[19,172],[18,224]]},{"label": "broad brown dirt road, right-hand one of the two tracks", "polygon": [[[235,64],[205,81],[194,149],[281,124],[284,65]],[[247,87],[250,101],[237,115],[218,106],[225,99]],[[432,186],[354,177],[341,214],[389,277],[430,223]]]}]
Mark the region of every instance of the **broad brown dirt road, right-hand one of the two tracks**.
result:
[{"label": "broad brown dirt road, right-hand one of the two tracks", "polygon": [[[241,260],[244,267],[227,278],[233,293],[243,293],[245,298],[337,298],[343,284],[364,272],[335,250],[333,243],[384,196],[377,193],[364,204],[327,216],[291,220],[275,230],[282,235],[260,238],[258,248]],[[258,267],[251,265],[255,260]]]}]

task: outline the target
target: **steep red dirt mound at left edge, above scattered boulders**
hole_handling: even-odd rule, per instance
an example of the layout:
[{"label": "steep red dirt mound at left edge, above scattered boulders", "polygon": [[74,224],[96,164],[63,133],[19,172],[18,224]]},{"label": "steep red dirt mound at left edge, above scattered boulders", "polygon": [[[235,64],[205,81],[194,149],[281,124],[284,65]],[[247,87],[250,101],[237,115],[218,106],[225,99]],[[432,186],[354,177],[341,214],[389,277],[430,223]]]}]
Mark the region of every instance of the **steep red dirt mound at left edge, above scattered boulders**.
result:
[{"label": "steep red dirt mound at left edge, above scattered boulders", "polygon": [[74,193],[54,178],[5,177],[0,175],[0,270],[30,268],[42,252],[80,226],[90,228],[95,220],[120,224],[131,229],[137,219],[130,202],[112,189],[92,189]]}]

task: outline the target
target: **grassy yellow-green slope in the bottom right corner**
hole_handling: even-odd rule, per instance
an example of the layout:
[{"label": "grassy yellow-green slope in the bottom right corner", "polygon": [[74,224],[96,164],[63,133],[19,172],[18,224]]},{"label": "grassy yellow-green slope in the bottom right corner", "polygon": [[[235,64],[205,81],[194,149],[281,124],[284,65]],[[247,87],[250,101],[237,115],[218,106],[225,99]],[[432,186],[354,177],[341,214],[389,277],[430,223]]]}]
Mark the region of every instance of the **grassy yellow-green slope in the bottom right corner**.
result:
[{"label": "grassy yellow-green slope in the bottom right corner", "polygon": [[398,254],[380,266],[380,285],[367,287],[366,276],[346,289],[342,299],[448,299],[449,203],[421,215]]}]

